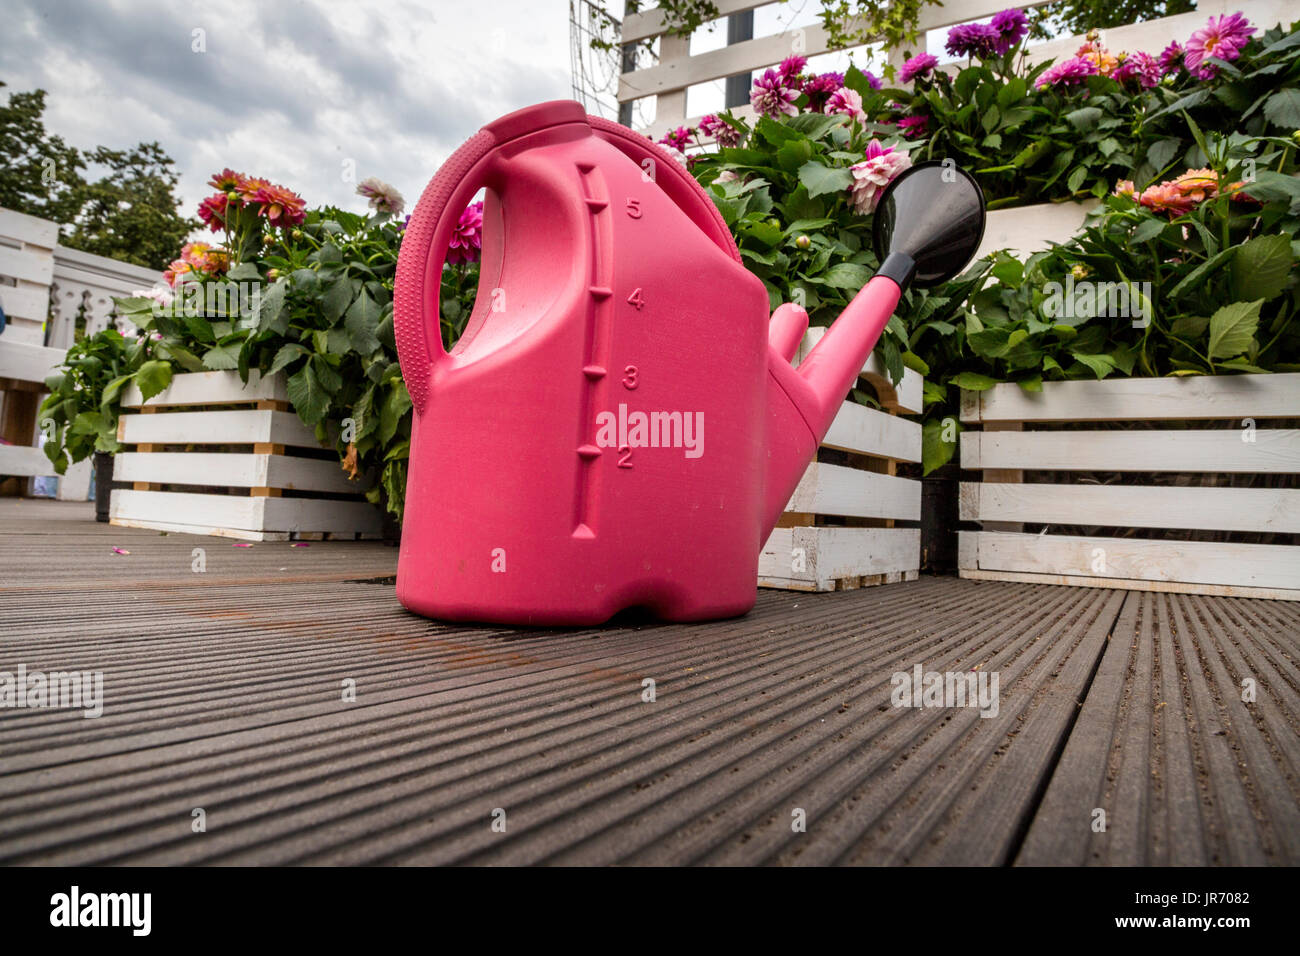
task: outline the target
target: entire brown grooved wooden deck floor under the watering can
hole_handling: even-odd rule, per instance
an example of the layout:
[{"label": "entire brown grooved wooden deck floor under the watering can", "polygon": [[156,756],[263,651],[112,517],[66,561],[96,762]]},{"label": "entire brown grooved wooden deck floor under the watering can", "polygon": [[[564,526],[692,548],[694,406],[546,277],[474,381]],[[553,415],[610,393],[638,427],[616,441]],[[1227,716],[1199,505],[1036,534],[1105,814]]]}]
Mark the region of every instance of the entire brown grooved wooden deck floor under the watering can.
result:
[{"label": "entire brown grooved wooden deck floor under the watering can", "polygon": [[[0,861],[1300,862],[1300,605],[923,578],[519,631],[407,614],[395,561],[0,501],[0,671],[104,674],[99,718],[0,710]],[[915,665],[997,715],[892,706]]]}]

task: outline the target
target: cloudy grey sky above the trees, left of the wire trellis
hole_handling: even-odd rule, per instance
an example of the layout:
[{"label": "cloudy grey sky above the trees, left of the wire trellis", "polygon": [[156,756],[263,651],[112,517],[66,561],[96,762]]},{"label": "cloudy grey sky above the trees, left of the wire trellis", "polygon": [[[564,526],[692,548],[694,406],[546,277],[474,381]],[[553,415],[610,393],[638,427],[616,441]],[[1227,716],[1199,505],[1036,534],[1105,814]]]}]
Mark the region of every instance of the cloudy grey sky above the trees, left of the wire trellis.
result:
[{"label": "cloudy grey sky above the trees, left of the wire trellis", "polygon": [[0,95],[47,90],[77,147],[156,139],[188,212],[222,166],[356,211],[377,176],[413,206],[481,125],[569,96],[566,0],[4,0],[3,20]]}]

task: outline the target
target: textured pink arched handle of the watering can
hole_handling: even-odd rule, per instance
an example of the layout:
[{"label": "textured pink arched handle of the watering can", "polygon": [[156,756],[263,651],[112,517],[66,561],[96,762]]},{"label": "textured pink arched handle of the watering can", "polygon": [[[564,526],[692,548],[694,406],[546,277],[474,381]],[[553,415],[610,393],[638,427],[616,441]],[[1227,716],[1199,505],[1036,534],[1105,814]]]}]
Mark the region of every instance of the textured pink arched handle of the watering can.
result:
[{"label": "textured pink arched handle of the watering can", "polygon": [[402,377],[417,412],[428,401],[434,364],[446,355],[439,328],[442,264],[460,213],[478,191],[493,152],[512,139],[566,122],[586,122],[593,133],[645,169],[654,161],[655,182],[664,194],[727,255],[741,261],[718,207],[680,163],[647,138],[616,122],[588,116],[581,104],[556,100],[528,107],[484,126],[438,169],[416,204],[398,255],[393,294],[393,329]]}]

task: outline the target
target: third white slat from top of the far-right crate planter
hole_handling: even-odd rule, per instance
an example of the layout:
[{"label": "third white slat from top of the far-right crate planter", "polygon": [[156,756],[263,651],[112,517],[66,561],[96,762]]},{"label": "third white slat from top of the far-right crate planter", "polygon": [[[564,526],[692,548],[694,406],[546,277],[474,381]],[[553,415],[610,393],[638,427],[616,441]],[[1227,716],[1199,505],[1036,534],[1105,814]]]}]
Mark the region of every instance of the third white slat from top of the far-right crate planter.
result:
[{"label": "third white slat from top of the far-right crate planter", "polygon": [[961,519],[1300,533],[1300,489],[967,481]]}]

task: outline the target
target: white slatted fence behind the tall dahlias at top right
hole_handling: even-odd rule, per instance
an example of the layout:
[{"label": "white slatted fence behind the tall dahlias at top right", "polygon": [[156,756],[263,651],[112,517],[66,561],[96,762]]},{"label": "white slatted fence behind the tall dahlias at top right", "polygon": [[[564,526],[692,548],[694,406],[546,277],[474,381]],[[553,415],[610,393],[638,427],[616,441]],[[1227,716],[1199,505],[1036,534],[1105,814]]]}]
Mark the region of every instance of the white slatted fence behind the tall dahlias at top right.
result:
[{"label": "white slatted fence behind the tall dahlias at top right", "polygon": [[[771,0],[714,0],[718,12],[725,17],[759,7],[771,5]],[[956,23],[984,20],[994,13],[1020,8],[1031,9],[1046,3],[998,3],[998,0],[946,0],[942,7],[927,5],[922,9],[919,27],[922,36],[927,30],[941,30]],[[1200,0],[1192,13],[1150,20],[1143,23],[1104,30],[1102,38],[1110,49],[1143,49],[1158,53],[1170,40],[1186,42],[1191,34],[1205,25],[1212,16],[1240,10],[1252,23],[1262,30],[1277,23],[1290,25],[1300,20],[1300,9],[1295,0]],[[623,21],[623,43],[634,43],[658,38],[659,60],[653,66],[624,73],[619,78],[619,103],[629,103],[644,98],[654,98],[655,120],[646,130],[658,139],[676,126],[694,126],[698,116],[686,114],[686,90],[698,83],[723,79],[741,73],[762,72],[776,66],[793,53],[816,56],[831,51],[829,38],[820,26],[806,26],[770,36],[758,36],[736,43],[722,49],[690,55],[690,38],[670,36],[664,33],[663,13],[658,8],[629,14]],[[1031,62],[1041,62],[1048,57],[1072,56],[1083,42],[1082,36],[1069,36],[1046,43],[1030,46]],[[916,44],[915,52],[924,49],[924,39]],[[854,52],[864,52],[866,47],[855,47]],[[888,59],[901,65],[904,51],[888,51]],[[737,116],[751,117],[748,105],[733,111]]]}]

